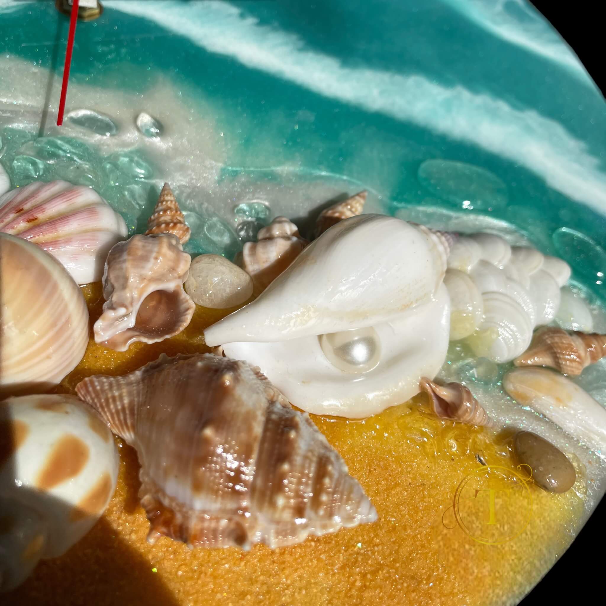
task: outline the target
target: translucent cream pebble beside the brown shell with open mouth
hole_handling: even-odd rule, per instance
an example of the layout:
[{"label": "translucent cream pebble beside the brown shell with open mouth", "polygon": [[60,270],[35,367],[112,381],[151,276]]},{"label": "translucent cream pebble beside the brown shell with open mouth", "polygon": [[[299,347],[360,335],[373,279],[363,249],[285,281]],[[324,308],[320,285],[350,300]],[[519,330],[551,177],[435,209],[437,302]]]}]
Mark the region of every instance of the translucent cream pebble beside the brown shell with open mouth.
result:
[{"label": "translucent cream pebble beside the brown shell with open mouth", "polygon": [[250,298],[253,279],[224,257],[200,255],[191,261],[185,291],[197,305],[227,309]]}]

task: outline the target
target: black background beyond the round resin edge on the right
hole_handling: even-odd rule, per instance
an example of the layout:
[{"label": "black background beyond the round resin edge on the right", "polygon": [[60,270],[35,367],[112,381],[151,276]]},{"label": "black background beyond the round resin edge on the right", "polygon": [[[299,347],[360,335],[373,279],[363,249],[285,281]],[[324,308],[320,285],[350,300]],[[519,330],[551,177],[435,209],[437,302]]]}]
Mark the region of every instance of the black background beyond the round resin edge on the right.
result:
[{"label": "black background beyond the round resin edge on the right", "polygon": [[[556,2],[536,0],[534,6],[551,22],[573,49],[585,69],[604,94],[604,20],[598,17],[601,2],[581,0]],[[604,5],[602,5],[604,8]],[[601,12],[601,11],[600,11]],[[603,133],[606,138],[606,133]],[[602,499],[573,544],[545,575],[544,579],[520,602],[535,604],[577,604],[598,600],[604,604],[601,579],[606,576],[604,556],[599,550],[606,538],[606,502]],[[592,594],[596,592],[594,597]]]}]

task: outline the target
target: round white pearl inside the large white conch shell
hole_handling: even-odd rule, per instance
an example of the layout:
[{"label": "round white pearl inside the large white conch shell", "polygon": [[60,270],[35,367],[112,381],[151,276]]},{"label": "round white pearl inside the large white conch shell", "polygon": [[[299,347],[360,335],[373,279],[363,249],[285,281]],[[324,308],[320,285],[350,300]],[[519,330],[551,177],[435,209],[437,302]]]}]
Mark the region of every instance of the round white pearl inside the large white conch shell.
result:
[{"label": "round white pearl inside the large white conch shell", "polygon": [[381,359],[381,341],[373,327],[320,335],[318,339],[327,360],[346,373],[365,373]]}]

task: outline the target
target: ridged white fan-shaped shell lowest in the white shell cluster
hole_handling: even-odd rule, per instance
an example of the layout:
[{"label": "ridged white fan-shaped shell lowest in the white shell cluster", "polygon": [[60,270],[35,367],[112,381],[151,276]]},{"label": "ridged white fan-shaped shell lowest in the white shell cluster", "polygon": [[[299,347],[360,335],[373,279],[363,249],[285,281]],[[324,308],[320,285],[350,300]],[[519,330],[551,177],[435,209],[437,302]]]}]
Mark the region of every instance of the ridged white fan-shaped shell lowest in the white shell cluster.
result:
[{"label": "ridged white fan-shaped shell lowest in the white shell cluster", "polygon": [[505,293],[484,293],[482,299],[484,321],[467,343],[479,358],[509,362],[530,345],[534,326],[518,302]]}]

